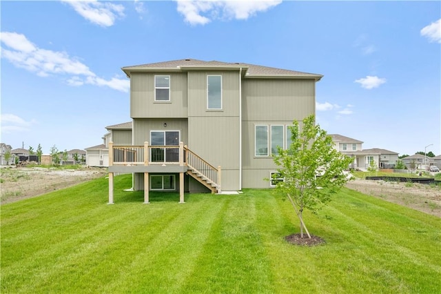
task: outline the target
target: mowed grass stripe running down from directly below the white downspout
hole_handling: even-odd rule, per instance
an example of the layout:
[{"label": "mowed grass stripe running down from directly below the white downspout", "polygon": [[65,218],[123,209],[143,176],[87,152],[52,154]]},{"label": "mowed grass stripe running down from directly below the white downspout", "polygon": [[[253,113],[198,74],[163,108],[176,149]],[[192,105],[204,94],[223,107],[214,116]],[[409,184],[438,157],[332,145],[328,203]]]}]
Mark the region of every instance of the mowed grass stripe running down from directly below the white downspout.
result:
[{"label": "mowed grass stripe running down from directly below the white downspout", "polygon": [[197,271],[183,293],[271,293],[271,267],[256,229],[256,198],[225,195]]}]

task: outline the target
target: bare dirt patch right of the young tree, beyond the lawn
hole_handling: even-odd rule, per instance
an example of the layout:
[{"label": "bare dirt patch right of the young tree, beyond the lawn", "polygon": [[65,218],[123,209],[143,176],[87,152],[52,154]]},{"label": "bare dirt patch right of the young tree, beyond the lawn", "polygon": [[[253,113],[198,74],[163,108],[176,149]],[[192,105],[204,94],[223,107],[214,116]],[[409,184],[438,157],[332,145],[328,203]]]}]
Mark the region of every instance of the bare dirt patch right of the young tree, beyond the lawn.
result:
[{"label": "bare dirt patch right of the young tree, beyond the lawn", "polygon": [[441,217],[441,186],[356,179],[347,188]]}]

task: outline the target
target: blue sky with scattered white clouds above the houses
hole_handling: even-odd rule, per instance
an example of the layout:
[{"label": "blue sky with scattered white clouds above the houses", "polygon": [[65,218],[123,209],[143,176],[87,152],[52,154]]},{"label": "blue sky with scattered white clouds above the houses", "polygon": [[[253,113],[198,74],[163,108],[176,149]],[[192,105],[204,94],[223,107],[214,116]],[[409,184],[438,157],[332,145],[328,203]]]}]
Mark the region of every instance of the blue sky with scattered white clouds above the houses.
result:
[{"label": "blue sky with scattered white clouds above the houses", "polygon": [[441,154],[440,1],[1,1],[1,141],[44,153],[130,121],[123,66],[201,59],[324,75],[328,133]]}]

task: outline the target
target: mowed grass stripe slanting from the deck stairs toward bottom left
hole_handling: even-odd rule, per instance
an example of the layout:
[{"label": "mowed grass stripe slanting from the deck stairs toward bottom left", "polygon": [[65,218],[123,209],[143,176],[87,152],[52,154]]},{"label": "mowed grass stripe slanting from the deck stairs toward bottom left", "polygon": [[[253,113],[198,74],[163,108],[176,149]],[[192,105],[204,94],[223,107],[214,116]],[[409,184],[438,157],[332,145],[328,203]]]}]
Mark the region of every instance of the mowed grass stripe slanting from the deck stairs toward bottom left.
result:
[{"label": "mowed grass stripe slanting from the deck stairs toward bottom left", "polygon": [[[213,205],[211,195],[192,197],[181,206],[184,213],[164,226],[163,231],[152,242],[139,248],[132,263],[121,268],[118,275],[103,291],[121,293],[125,289],[145,293],[180,293],[181,285],[195,271],[195,263],[209,230],[218,217],[222,200],[216,199]],[[164,213],[172,213],[164,211]],[[142,236],[139,236],[142,238]]]}]

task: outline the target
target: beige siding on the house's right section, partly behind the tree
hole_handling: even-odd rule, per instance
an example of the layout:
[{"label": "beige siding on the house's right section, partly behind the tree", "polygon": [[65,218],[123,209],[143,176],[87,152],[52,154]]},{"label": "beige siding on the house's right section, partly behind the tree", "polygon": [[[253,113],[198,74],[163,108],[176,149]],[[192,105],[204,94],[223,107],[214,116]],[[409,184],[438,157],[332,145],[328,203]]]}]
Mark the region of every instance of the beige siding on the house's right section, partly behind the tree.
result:
[{"label": "beige siding on the house's right section, partly behind the tree", "polygon": [[[290,126],[316,110],[315,81],[307,79],[250,79],[243,82],[243,188],[269,188],[273,158],[256,157],[255,126]],[[286,130],[284,129],[284,141]]]}]

